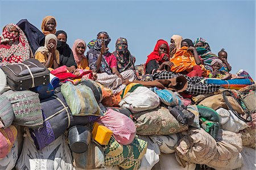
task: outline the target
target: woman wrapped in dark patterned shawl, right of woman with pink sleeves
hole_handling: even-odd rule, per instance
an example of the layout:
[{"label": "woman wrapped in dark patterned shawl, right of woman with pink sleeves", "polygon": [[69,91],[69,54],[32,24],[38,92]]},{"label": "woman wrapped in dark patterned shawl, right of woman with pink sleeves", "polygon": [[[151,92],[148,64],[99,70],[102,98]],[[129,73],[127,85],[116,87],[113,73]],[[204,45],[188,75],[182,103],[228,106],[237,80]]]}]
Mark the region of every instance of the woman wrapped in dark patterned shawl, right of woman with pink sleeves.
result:
[{"label": "woman wrapped in dark patterned shawl, right of woman with pink sleeves", "polygon": [[120,73],[128,69],[135,70],[135,57],[128,50],[128,44],[125,38],[117,39],[113,55],[117,58],[117,68]]}]

